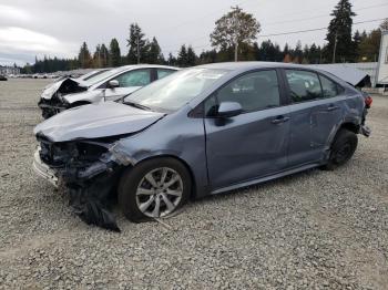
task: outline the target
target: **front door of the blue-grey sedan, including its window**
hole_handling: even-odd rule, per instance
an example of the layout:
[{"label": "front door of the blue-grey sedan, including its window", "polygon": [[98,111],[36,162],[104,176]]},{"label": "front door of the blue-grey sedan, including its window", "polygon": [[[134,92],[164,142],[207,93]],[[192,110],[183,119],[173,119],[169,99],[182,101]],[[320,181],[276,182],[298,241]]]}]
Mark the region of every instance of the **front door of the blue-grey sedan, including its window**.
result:
[{"label": "front door of the blue-grey sedan, including its window", "polygon": [[[217,117],[222,102],[238,102],[243,113]],[[282,105],[276,70],[244,74],[206,100],[206,156],[213,190],[286,167],[289,112]]]}]

